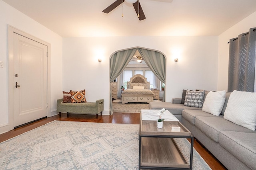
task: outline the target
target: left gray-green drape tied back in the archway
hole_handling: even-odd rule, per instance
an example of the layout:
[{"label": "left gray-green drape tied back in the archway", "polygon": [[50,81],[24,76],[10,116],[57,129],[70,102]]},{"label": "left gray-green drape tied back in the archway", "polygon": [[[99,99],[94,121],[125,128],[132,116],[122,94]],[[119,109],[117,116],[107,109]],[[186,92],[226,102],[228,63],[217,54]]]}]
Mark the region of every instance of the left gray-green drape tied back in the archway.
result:
[{"label": "left gray-green drape tied back in the archway", "polygon": [[[136,49],[128,49],[114,53],[110,58],[110,82],[114,81],[128,65]],[[110,113],[113,114],[112,95],[110,91]]]}]

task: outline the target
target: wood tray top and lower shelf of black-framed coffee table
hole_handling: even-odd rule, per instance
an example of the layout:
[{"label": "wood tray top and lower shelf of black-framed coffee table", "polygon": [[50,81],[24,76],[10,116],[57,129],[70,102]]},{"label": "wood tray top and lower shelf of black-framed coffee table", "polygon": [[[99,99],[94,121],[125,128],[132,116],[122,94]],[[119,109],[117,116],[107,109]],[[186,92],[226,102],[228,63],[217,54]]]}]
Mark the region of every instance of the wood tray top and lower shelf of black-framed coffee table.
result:
[{"label": "wood tray top and lower shelf of black-framed coffee table", "polygon": [[[150,110],[142,110],[141,115]],[[139,169],[192,170],[194,136],[179,121],[164,121],[158,129],[156,120],[143,120],[140,116]],[[180,127],[179,132],[172,127]],[[186,161],[174,138],[190,138],[190,163]]]}]

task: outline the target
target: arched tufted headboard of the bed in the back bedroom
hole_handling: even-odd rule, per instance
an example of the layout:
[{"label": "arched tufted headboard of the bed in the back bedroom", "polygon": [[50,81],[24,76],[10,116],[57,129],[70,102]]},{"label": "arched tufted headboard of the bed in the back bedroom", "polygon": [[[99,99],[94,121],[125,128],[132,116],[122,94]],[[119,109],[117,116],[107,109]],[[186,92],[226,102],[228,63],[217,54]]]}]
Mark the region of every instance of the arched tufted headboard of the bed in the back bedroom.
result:
[{"label": "arched tufted headboard of the bed in the back bedroom", "polygon": [[129,82],[127,82],[128,88],[132,88],[133,86],[144,86],[145,89],[150,89],[150,82],[148,82],[147,78],[141,74],[136,74],[130,78]]}]

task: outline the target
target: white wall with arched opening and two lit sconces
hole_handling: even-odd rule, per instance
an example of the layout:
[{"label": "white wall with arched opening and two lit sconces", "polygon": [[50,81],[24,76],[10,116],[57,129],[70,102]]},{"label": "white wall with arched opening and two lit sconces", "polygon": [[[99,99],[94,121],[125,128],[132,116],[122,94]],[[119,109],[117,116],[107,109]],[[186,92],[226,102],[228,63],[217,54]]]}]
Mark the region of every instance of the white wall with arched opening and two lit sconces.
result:
[{"label": "white wall with arched opening and two lit sconces", "polygon": [[217,36],[63,38],[63,90],[85,89],[89,102],[103,98],[108,113],[110,56],[131,47],[166,55],[166,102],[181,97],[182,89],[217,90]]}]

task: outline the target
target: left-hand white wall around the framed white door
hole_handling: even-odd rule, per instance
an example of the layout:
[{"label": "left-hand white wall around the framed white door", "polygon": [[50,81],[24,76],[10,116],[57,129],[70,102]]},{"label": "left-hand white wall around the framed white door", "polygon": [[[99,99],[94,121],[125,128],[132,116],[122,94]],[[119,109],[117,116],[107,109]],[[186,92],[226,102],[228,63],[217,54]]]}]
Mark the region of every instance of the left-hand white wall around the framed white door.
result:
[{"label": "left-hand white wall around the framed white door", "polygon": [[62,37],[0,0],[0,133],[8,131],[8,25],[50,43],[51,114],[62,98]]}]

